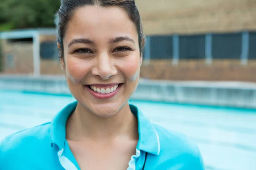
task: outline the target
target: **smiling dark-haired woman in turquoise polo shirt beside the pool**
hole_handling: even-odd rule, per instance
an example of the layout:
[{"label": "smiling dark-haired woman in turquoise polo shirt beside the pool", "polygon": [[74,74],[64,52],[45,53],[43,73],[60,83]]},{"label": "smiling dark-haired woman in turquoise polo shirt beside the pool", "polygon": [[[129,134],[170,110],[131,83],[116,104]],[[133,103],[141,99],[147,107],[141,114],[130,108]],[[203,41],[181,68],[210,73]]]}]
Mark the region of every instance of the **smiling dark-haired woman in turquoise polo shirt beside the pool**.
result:
[{"label": "smiling dark-haired woman in turquoise polo shirt beside the pool", "polygon": [[128,100],[145,36],[134,0],[62,0],[61,68],[77,102],[3,140],[0,170],[202,170],[195,144]]}]

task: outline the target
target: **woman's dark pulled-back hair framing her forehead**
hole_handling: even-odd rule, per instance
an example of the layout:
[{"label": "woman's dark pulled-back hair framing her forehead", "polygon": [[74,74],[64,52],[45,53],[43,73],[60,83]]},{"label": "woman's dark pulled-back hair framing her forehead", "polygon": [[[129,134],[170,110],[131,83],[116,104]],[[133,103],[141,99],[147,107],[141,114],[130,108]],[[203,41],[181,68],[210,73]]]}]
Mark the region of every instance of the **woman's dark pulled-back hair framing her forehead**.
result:
[{"label": "woman's dark pulled-back hair framing her forehead", "polygon": [[67,29],[67,23],[74,14],[74,11],[82,6],[118,6],[123,8],[131,21],[137,28],[139,35],[139,45],[140,53],[144,50],[145,47],[145,35],[143,34],[143,27],[140,20],[140,13],[135,5],[134,0],[61,0],[61,7],[57,15],[57,29],[58,29],[58,43],[61,46],[58,51],[60,58],[64,59],[63,56],[63,37]]}]

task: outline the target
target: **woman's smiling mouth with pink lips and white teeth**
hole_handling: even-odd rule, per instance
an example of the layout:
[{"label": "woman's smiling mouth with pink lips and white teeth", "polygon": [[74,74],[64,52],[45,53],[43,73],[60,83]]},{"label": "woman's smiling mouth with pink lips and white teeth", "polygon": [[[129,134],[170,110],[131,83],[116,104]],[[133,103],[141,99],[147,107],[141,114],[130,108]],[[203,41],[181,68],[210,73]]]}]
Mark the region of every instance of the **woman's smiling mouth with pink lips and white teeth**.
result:
[{"label": "woman's smiling mouth with pink lips and white teeth", "polygon": [[122,83],[112,85],[84,85],[84,87],[97,99],[108,99],[117,94],[122,87]]}]

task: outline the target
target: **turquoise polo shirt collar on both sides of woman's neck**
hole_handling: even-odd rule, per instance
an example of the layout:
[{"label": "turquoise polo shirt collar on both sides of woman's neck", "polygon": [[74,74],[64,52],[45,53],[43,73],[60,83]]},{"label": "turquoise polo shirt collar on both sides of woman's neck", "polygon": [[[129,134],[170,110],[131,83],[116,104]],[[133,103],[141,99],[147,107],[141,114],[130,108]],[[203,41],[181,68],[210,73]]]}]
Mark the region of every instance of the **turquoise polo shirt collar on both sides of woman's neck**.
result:
[{"label": "turquoise polo shirt collar on both sides of woman's neck", "polygon": [[[59,150],[64,147],[64,142],[66,139],[66,122],[70,114],[75,111],[76,105],[77,101],[67,105],[52,119],[50,143],[51,146],[56,144]],[[130,104],[130,108],[132,113],[138,119],[139,141],[137,144],[137,149],[154,155],[159,155],[160,142],[154,126],[136,106]]]}]

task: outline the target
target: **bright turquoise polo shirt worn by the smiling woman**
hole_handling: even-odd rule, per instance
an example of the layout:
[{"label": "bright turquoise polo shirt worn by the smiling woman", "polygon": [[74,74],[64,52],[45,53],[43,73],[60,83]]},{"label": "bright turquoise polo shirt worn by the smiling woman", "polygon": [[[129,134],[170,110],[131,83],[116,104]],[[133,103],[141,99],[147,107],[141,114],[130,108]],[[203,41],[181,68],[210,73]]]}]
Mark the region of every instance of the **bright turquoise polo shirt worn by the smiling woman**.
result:
[{"label": "bright turquoise polo shirt worn by the smiling woman", "polygon": [[[77,102],[67,105],[52,122],[3,139],[0,170],[80,170],[65,130],[76,105]],[[204,170],[198,147],[186,136],[153,125],[136,106],[130,108],[138,119],[139,141],[127,170],[143,170],[143,166],[144,170]]]}]

